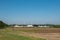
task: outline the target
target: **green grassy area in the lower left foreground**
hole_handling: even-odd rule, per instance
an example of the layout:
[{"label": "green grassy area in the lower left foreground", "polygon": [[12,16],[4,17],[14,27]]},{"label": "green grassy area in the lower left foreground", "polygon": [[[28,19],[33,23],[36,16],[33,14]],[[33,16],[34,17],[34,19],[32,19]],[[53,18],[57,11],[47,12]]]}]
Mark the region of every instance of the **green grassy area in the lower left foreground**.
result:
[{"label": "green grassy area in the lower left foreground", "polygon": [[17,33],[20,33],[20,32],[16,30],[12,31],[12,30],[7,30],[7,29],[1,29],[0,40],[45,40],[42,38],[34,38],[34,37],[17,35]]}]

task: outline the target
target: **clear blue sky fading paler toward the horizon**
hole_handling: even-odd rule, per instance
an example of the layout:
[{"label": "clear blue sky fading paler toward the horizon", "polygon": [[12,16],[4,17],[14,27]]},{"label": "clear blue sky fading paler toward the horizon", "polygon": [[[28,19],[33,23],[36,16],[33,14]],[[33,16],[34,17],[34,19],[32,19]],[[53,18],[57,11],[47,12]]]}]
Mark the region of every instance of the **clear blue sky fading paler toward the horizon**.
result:
[{"label": "clear blue sky fading paler toward the horizon", "polygon": [[8,24],[60,24],[60,0],[0,0],[0,20]]}]

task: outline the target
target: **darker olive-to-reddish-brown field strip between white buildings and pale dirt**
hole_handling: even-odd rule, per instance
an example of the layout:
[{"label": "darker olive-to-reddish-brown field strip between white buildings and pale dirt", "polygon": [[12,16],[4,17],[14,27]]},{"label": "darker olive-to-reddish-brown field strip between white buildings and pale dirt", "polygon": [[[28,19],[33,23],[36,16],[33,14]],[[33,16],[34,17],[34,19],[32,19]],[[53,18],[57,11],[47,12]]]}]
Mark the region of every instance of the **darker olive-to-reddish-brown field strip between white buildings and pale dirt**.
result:
[{"label": "darker olive-to-reddish-brown field strip between white buildings and pale dirt", "polygon": [[12,28],[12,29],[35,33],[60,33],[60,28]]}]

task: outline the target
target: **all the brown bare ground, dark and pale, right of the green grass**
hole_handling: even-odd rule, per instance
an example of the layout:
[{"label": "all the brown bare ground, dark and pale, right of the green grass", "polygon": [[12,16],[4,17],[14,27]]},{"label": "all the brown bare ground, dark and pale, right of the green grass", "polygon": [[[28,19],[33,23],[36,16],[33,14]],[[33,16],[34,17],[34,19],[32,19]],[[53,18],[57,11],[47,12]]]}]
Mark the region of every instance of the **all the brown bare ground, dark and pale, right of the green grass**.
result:
[{"label": "all the brown bare ground, dark and pale, right of the green grass", "polygon": [[13,30],[22,31],[19,35],[47,40],[60,40],[60,28],[14,28]]}]

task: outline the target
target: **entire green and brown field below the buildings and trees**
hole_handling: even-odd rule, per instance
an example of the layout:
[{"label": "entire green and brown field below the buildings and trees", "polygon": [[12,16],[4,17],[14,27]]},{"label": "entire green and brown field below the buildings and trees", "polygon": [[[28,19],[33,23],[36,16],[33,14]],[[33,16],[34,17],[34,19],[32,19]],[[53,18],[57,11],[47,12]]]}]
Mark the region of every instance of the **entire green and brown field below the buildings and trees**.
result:
[{"label": "entire green and brown field below the buildings and trees", "polygon": [[60,40],[60,28],[0,29],[0,40]]}]

